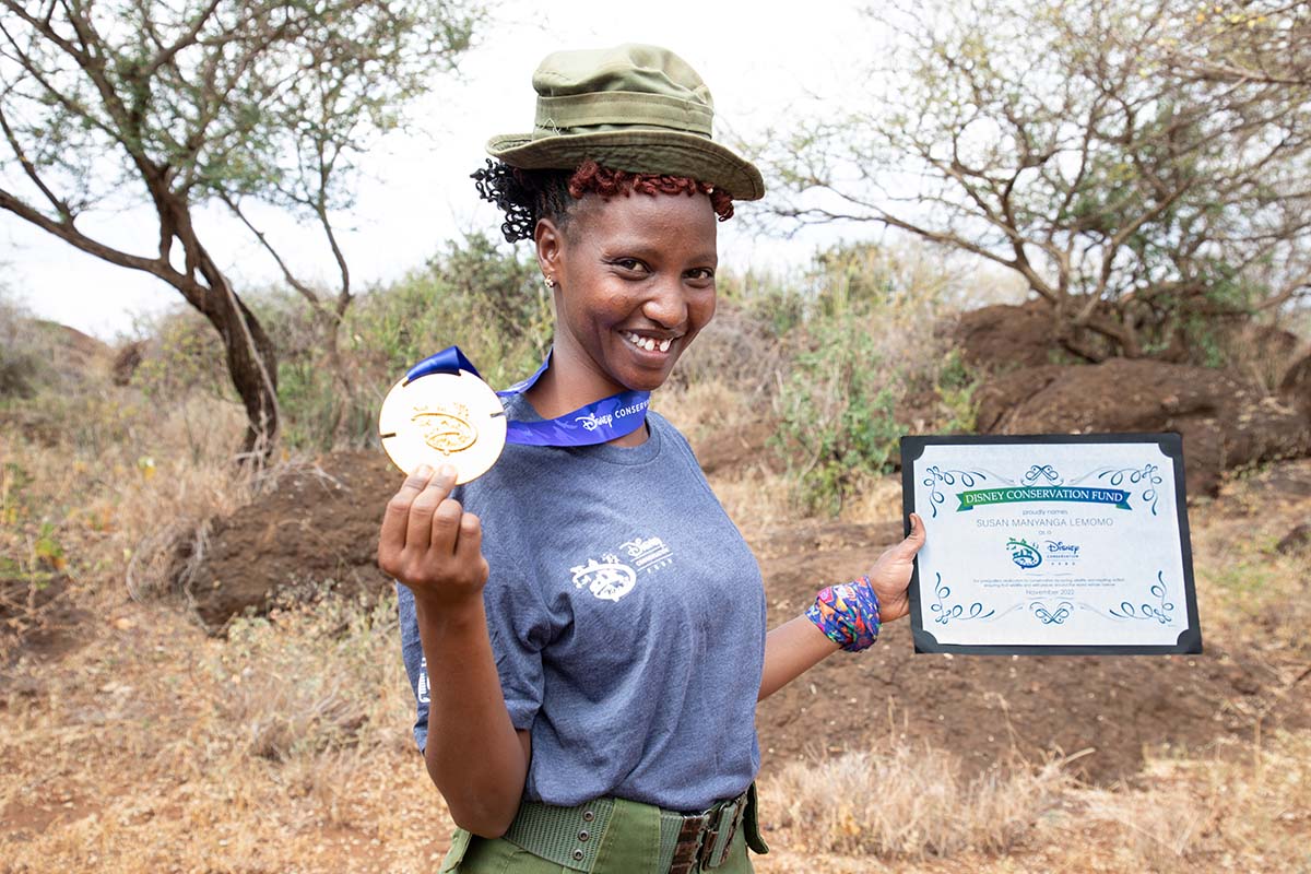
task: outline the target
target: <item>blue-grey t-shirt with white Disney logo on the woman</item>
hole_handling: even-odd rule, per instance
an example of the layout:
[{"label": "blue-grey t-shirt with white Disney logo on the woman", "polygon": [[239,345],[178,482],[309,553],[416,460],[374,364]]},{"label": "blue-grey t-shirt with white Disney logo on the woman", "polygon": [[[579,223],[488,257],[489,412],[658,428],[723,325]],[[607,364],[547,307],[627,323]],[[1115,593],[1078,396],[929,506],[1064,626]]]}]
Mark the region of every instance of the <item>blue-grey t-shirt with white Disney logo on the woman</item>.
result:
[{"label": "blue-grey t-shirt with white Disney logo on the woman", "polygon": [[[540,418],[520,397],[506,409]],[[532,801],[699,811],[760,764],[760,569],[683,435],[646,421],[638,447],[506,446],[454,495],[482,520],[488,630],[510,719],[532,734]],[[397,590],[423,748],[426,663]]]}]

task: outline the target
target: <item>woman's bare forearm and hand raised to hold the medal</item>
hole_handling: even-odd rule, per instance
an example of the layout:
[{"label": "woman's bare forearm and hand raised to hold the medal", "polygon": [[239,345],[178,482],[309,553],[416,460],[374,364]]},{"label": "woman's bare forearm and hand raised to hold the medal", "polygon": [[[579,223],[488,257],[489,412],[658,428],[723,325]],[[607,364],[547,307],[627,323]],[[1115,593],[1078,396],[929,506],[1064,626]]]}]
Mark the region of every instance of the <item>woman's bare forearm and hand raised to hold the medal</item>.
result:
[{"label": "woman's bare forearm and hand raised to hold the medal", "polygon": [[387,504],[379,566],[414,592],[427,660],[427,773],[461,828],[499,837],[528,773],[526,731],[515,731],[488,637],[479,518],[447,495],[455,473],[420,468]]}]

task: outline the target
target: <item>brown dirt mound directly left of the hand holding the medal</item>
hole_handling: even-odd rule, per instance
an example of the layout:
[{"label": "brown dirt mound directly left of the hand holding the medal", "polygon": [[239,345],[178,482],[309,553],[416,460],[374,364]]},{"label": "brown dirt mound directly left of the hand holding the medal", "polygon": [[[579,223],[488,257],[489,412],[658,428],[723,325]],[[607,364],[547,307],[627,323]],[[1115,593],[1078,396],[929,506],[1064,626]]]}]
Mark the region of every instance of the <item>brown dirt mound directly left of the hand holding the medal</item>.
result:
[{"label": "brown dirt mound directly left of the hand holding the medal", "polygon": [[391,587],[378,569],[378,528],[400,482],[382,452],[336,452],[215,522],[185,583],[201,620],[219,629],[275,595],[325,582],[347,592]]}]

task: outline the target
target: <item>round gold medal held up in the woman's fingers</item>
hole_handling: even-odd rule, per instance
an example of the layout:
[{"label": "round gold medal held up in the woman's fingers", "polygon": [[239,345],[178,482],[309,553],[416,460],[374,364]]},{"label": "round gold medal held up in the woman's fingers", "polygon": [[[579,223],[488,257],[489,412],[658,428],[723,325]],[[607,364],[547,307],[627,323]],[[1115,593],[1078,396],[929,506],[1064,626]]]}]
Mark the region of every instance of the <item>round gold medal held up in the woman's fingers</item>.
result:
[{"label": "round gold medal held up in the woman's fingers", "polygon": [[383,398],[378,435],[406,474],[426,464],[450,464],[456,485],[486,473],[505,448],[505,408],[492,388],[468,371],[401,380]]}]

